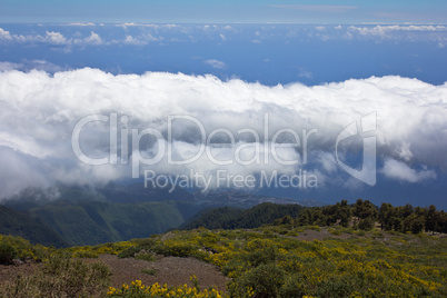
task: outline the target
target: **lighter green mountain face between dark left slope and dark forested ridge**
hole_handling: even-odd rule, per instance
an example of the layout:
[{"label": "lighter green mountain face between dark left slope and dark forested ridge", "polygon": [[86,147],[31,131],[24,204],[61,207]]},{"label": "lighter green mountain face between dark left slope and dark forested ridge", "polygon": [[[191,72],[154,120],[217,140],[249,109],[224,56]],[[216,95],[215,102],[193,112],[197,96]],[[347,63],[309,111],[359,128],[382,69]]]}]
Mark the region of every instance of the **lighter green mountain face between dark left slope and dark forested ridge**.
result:
[{"label": "lighter green mountain face between dark left slope and dark forested ridge", "polygon": [[155,201],[112,203],[57,201],[29,212],[40,218],[70,245],[97,245],[148,237],[180,226],[186,218],[181,209],[191,203]]}]

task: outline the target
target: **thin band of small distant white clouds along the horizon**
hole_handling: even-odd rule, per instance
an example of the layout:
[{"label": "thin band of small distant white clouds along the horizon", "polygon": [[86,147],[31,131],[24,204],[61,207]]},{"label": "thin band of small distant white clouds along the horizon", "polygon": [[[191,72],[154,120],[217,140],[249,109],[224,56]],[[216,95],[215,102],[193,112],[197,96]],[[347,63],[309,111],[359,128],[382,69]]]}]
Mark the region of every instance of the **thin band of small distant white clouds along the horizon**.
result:
[{"label": "thin band of small distant white clouds along the horizon", "polygon": [[[280,6],[277,6],[280,7]],[[341,6],[291,6],[300,9],[345,10],[355,7]],[[40,29],[47,28],[43,26]],[[29,28],[26,28],[29,30]],[[78,30],[79,29],[79,30]],[[447,28],[434,24],[376,24],[376,26],[306,26],[306,24],[152,24],[152,23],[69,23],[26,32],[11,32],[0,28],[0,44],[49,44],[63,47],[86,46],[146,46],[166,42],[198,42],[235,40],[292,42],[310,40],[358,40],[377,42],[437,42],[443,48],[447,42]]]}]

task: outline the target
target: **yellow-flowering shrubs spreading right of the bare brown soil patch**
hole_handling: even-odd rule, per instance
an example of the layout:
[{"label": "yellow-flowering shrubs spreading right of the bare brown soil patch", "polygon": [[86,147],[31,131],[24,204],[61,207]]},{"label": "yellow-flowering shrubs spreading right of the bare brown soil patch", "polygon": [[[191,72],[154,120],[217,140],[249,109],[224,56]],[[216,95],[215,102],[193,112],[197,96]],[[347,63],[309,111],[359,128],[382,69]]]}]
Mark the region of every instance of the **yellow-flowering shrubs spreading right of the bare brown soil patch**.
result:
[{"label": "yellow-flowering shrubs spreading right of the bare brown soil patch", "polygon": [[[232,278],[230,297],[447,295],[445,238],[375,231],[366,237],[301,241],[271,230],[261,232],[268,228],[172,231],[153,237],[151,250],[192,256],[218,266]],[[341,235],[349,230],[338,229]]]}]

